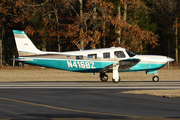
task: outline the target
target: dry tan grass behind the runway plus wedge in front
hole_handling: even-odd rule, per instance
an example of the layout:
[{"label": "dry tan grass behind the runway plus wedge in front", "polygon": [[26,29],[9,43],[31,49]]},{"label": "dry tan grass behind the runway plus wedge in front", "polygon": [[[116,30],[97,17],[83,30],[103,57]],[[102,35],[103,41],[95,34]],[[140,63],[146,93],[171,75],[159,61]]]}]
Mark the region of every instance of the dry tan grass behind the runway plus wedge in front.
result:
[{"label": "dry tan grass behind the runway plus wedge in front", "polygon": [[[180,81],[180,69],[161,69],[158,71],[160,81]],[[152,81],[153,74],[145,72],[119,73],[121,81]],[[108,73],[109,80],[112,73]],[[0,82],[26,82],[26,81],[100,81],[99,73],[76,73],[49,68],[26,66],[0,68]],[[164,97],[180,97],[180,90],[135,90],[122,92],[126,94],[145,94]]]}]

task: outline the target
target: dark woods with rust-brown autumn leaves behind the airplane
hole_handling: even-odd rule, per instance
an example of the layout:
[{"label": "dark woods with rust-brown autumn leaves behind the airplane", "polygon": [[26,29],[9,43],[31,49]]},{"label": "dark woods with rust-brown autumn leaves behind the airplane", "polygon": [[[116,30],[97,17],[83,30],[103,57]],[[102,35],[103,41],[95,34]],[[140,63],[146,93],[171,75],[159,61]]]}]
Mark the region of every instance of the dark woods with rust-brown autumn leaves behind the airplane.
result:
[{"label": "dark woods with rust-brown autumn leaves behind the airplane", "polygon": [[0,66],[17,55],[12,30],[43,51],[120,46],[178,62],[178,0],[1,0]]}]

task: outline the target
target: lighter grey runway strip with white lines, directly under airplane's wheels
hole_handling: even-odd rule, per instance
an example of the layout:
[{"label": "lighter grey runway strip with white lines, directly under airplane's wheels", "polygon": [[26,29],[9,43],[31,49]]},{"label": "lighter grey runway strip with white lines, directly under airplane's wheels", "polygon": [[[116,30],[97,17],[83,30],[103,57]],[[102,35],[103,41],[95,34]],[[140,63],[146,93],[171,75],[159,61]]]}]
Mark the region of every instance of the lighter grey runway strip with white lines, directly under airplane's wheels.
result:
[{"label": "lighter grey runway strip with white lines, directly under airplane's wheels", "polygon": [[0,89],[49,88],[49,89],[180,89],[180,81],[149,82],[2,82]]}]

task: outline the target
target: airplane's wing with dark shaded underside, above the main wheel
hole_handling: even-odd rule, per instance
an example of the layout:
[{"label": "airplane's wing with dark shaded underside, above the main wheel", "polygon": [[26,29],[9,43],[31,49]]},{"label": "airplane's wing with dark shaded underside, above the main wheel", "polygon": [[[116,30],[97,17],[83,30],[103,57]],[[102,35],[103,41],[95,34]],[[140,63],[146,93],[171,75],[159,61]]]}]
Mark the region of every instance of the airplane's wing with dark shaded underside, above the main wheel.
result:
[{"label": "airplane's wing with dark shaded underside, above the main wheel", "polygon": [[101,69],[99,72],[112,72],[113,66],[119,65],[118,71],[128,70],[132,66],[139,63],[141,60],[137,58],[131,58],[131,59],[124,59],[120,60],[119,62],[116,62],[114,64],[111,64],[109,66],[106,66],[105,68]]}]

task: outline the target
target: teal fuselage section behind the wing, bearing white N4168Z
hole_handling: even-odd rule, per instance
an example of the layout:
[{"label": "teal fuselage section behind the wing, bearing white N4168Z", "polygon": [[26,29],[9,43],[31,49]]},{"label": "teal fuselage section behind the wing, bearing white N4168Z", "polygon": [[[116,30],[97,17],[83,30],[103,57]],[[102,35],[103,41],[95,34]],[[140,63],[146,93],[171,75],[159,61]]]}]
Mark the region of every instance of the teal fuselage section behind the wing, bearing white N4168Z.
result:
[{"label": "teal fuselage section behind the wing, bearing white N4168Z", "polygon": [[116,61],[94,61],[94,60],[72,60],[72,59],[36,59],[24,61],[25,64],[38,65],[48,68],[55,68],[74,72],[99,72],[102,68],[115,63]]}]

